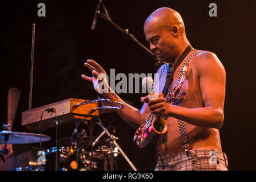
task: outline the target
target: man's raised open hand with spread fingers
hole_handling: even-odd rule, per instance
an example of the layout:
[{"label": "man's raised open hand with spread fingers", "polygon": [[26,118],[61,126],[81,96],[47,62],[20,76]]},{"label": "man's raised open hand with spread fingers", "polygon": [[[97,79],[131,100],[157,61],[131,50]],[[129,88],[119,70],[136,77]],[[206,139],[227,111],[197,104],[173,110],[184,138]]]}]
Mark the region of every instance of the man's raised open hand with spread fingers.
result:
[{"label": "man's raised open hand with spread fingers", "polygon": [[[93,74],[93,77],[89,77],[89,76],[85,76],[82,75],[81,77],[87,81],[91,81],[93,82],[93,87],[94,90],[97,93],[102,94],[103,93],[103,89],[105,89],[105,93],[106,91],[109,91],[109,85],[107,83],[106,80],[106,72],[104,69],[102,69],[102,67],[96,63],[94,60],[88,59],[87,63],[85,63],[85,66],[90,69],[91,73]],[[102,81],[104,81],[104,83],[101,83]],[[100,84],[101,83],[101,84]],[[106,88],[101,88],[102,85],[105,85]],[[107,89],[107,90],[106,90]]]}]

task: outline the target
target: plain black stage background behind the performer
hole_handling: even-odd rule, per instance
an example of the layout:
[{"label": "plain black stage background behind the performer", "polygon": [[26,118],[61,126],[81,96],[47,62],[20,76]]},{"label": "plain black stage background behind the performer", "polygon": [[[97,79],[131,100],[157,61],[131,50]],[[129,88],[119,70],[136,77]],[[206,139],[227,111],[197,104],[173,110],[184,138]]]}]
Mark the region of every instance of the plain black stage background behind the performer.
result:
[{"label": "plain black stage background behind the performer", "polygon": [[[38,17],[38,3],[46,5],[46,17]],[[218,16],[209,16],[209,4],[217,3]],[[117,73],[155,73],[154,60],[136,44],[98,19],[91,30],[98,1],[4,1],[1,2],[1,123],[7,120],[7,90],[21,91],[13,131],[33,132],[21,126],[21,114],[29,108],[29,80],[32,24],[35,30],[34,85],[32,109],[67,98],[93,100],[97,93],[81,74],[91,75],[83,66],[94,59],[106,70]],[[255,170],[254,61],[256,1],[104,1],[111,19],[128,28],[142,44],[149,46],[143,34],[147,16],[159,7],[177,10],[186,27],[187,38],[194,48],[214,52],[226,69],[225,122],[221,133],[222,149],[229,158],[229,170]],[[118,82],[118,81],[117,81]],[[117,83],[116,82],[116,83]],[[138,109],[143,94],[120,94]],[[101,116],[103,125],[114,126],[117,142],[139,170],[154,169],[154,144],[139,149],[133,142],[135,130],[115,113]],[[62,137],[69,137],[74,123],[63,125]],[[37,133],[37,132],[35,132]],[[94,135],[101,133],[98,126]],[[51,142],[54,146],[55,129]],[[64,144],[64,143],[63,143]],[[39,144],[14,146],[14,152]],[[131,170],[121,155],[119,170]]]}]

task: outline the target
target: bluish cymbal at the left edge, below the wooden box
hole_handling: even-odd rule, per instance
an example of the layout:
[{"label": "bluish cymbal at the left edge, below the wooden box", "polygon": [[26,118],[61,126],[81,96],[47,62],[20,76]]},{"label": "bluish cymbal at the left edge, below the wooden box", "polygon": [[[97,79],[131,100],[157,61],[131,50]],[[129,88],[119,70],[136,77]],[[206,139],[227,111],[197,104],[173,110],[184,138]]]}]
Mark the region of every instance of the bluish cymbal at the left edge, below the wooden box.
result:
[{"label": "bluish cymbal at the left edge, below the wooden box", "polygon": [[[21,133],[13,131],[0,131],[0,144],[5,144],[5,136],[7,135],[9,144],[27,144],[27,143],[39,143],[40,134],[34,133]],[[47,135],[41,135],[41,142],[50,140],[51,137]]]}]

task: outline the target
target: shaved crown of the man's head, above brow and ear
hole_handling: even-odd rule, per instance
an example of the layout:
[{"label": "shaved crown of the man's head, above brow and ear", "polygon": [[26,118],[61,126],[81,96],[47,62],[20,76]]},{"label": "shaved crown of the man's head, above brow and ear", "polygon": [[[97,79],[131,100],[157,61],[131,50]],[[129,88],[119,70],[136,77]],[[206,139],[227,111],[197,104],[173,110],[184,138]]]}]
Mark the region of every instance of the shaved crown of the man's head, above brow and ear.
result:
[{"label": "shaved crown of the man's head, above brow and ear", "polygon": [[181,15],[169,7],[161,7],[147,17],[144,28],[154,26],[157,29],[169,29],[173,26],[179,27],[179,31],[185,34],[185,26]]}]

